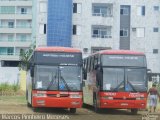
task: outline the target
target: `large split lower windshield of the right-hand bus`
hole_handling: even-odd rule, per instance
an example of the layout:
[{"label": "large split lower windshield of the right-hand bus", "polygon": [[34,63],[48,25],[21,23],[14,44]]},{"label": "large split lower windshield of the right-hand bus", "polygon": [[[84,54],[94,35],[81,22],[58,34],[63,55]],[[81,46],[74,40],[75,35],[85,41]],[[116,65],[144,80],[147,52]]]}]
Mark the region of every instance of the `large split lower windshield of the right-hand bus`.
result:
[{"label": "large split lower windshield of the right-hand bus", "polygon": [[147,91],[145,68],[103,68],[103,90]]}]

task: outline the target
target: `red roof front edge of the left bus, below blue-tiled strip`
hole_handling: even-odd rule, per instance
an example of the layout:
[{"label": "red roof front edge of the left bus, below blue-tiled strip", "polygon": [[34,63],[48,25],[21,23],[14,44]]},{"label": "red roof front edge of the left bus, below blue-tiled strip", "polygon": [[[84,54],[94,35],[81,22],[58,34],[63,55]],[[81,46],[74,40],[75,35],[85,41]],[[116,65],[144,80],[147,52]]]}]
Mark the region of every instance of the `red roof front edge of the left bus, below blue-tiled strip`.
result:
[{"label": "red roof front edge of the left bus, below blue-tiled strip", "polygon": [[76,48],[69,48],[69,47],[38,47],[35,51],[40,52],[71,52],[71,53],[80,53],[81,51]]}]

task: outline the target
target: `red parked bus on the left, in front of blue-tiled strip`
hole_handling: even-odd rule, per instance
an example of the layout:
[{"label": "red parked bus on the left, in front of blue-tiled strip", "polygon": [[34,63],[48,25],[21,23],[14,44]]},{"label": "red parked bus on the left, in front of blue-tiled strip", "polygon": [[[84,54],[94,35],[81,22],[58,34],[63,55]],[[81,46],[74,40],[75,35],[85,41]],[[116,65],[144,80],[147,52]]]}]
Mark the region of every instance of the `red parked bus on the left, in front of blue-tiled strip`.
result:
[{"label": "red parked bus on the left, in front of blue-tiled strip", "polygon": [[65,47],[39,47],[30,58],[27,103],[33,108],[82,106],[82,53]]}]

